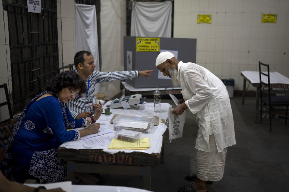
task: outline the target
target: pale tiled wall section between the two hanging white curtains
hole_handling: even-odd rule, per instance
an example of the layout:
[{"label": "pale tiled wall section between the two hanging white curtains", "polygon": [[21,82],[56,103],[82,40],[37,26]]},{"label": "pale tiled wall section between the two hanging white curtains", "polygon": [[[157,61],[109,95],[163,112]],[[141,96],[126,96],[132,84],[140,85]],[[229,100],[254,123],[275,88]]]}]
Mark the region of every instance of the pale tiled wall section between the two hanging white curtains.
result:
[{"label": "pale tiled wall section between the two hanging white curtains", "polygon": [[[126,36],[126,1],[101,0],[101,71],[124,70],[123,36]],[[102,93],[113,96],[120,91],[120,81],[101,83]]]}]

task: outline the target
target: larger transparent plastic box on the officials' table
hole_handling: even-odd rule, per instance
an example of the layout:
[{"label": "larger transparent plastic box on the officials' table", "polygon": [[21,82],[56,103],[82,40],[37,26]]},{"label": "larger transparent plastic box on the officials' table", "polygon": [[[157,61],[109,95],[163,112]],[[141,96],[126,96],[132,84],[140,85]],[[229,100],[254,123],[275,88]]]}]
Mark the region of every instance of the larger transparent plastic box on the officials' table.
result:
[{"label": "larger transparent plastic box on the officials' table", "polygon": [[121,129],[128,129],[132,131],[139,131],[149,133],[154,128],[153,116],[140,115],[118,115],[113,119],[113,130],[119,131]]}]

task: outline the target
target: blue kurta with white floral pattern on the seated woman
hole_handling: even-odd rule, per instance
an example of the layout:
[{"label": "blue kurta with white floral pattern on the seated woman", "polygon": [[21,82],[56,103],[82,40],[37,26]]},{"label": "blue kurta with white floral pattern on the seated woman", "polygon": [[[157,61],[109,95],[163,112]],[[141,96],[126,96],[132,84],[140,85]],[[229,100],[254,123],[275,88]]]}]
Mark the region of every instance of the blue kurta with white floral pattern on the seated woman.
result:
[{"label": "blue kurta with white floral pattern on the seated woman", "polygon": [[66,129],[83,127],[85,122],[86,118],[73,119],[56,95],[34,101],[15,133],[8,179],[23,182],[30,174],[49,182],[66,181],[66,161],[57,159],[57,148],[78,140],[79,131]]}]

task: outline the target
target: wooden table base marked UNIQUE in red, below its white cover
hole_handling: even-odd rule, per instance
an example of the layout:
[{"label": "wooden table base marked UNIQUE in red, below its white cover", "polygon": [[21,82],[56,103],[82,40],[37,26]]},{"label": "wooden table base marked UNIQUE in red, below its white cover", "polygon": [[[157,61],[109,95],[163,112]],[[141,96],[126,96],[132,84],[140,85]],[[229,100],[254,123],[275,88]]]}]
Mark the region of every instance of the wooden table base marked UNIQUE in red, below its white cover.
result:
[{"label": "wooden table base marked UNIQUE in red, below its white cover", "polygon": [[[163,134],[164,140],[165,134]],[[161,153],[118,152],[113,155],[102,149],[58,148],[59,159],[67,160],[67,181],[74,184],[75,172],[141,176],[141,188],[151,190],[151,166],[164,162]]]}]

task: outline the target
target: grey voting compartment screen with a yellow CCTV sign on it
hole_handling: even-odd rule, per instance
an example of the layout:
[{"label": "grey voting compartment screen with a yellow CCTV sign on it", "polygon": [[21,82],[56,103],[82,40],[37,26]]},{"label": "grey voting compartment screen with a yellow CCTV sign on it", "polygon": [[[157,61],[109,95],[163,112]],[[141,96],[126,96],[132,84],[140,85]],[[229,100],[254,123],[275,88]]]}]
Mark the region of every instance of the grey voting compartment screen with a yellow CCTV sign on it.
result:
[{"label": "grey voting compartment screen with a yellow CCTV sign on it", "polygon": [[155,63],[163,51],[172,52],[179,61],[196,63],[197,39],[123,37],[125,70],[155,70],[149,77],[126,79],[134,88],[174,87],[169,77],[163,76]]}]

